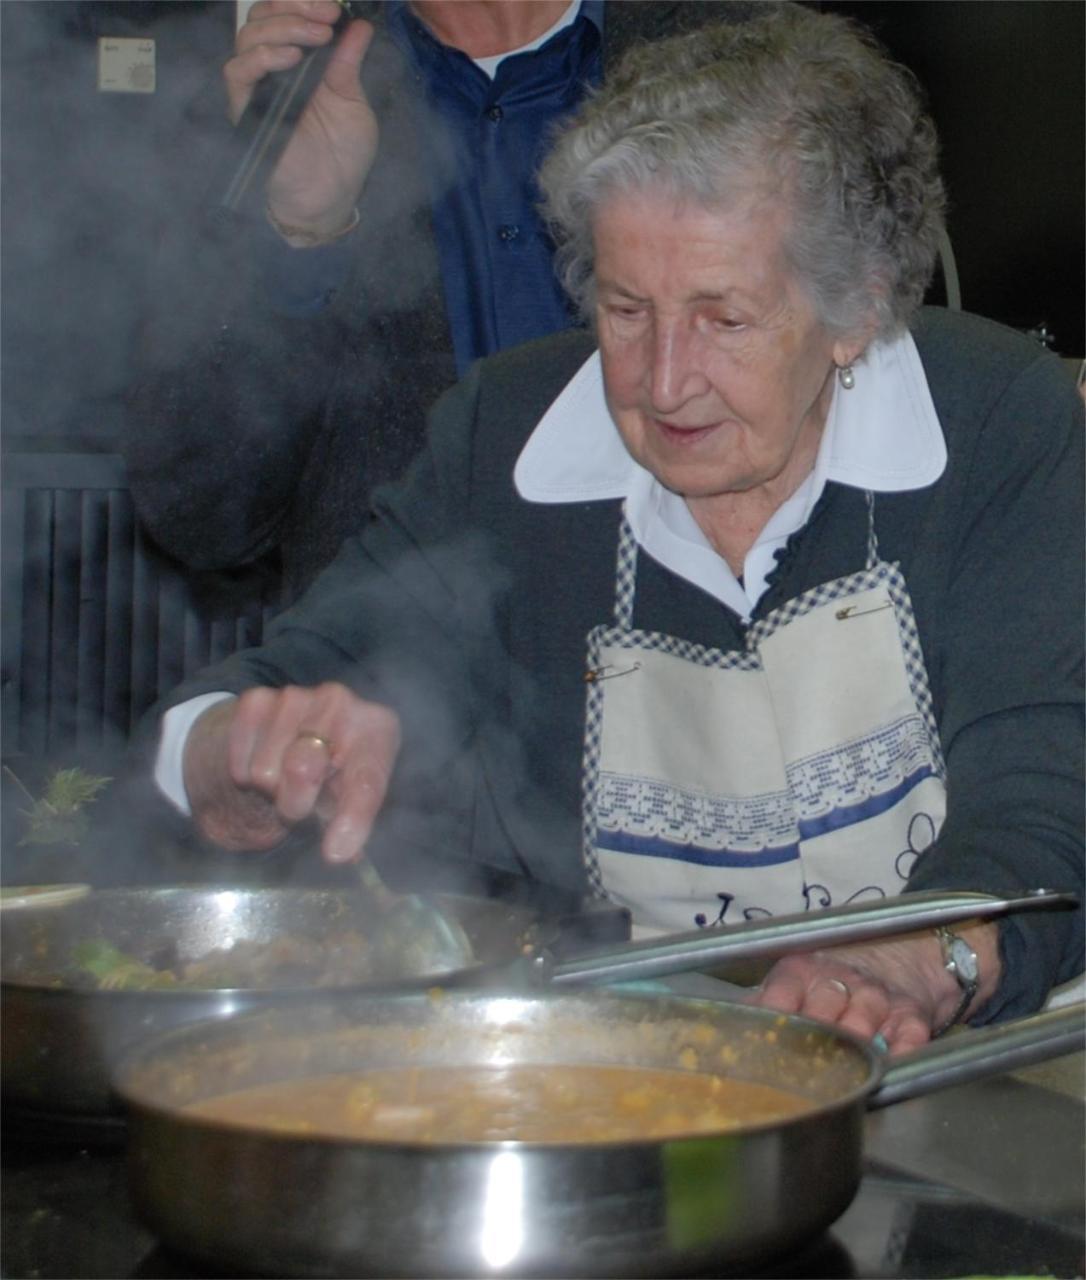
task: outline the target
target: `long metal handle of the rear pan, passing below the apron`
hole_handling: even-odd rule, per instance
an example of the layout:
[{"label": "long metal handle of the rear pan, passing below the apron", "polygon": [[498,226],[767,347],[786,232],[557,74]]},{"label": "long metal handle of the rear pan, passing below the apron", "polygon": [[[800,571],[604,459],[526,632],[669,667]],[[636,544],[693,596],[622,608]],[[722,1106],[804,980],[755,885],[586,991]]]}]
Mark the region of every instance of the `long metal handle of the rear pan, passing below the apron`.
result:
[{"label": "long metal handle of the rear pan, passing below the apron", "polygon": [[[913,929],[986,920],[1012,911],[1068,909],[1078,905],[1073,893],[1033,890],[1022,897],[993,893],[903,893],[877,902],[854,902],[823,911],[799,911],[750,920],[721,929],[694,929],[643,942],[626,942],[538,966],[544,982],[592,986],[639,982],[688,973],[724,961],[752,957],[774,960],[793,951],[863,942]],[[542,972],[540,972],[542,970]]]}]

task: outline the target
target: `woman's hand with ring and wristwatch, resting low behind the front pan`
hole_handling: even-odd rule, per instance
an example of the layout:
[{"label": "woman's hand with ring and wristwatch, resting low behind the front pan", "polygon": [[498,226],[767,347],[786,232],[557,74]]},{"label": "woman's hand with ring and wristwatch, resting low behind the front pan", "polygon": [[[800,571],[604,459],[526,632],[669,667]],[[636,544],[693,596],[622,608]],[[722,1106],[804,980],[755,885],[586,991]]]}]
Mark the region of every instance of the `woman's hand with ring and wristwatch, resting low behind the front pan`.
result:
[{"label": "woman's hand with ring and wristwatch, resting low behind the front pan", "polygon": [[[995,925],[959,931],[981,956],[985,977],[973,1007],[995,989]],[[985,973],[987,969],[987,973]],[[908,1053],[931,1039],[952,1016],[960,991],[943,964],[934,933],[832,947],[785,956],[750,1001],[785,1014],[836,1023],[862,1039],[880,1036],[891,1053]]]}]

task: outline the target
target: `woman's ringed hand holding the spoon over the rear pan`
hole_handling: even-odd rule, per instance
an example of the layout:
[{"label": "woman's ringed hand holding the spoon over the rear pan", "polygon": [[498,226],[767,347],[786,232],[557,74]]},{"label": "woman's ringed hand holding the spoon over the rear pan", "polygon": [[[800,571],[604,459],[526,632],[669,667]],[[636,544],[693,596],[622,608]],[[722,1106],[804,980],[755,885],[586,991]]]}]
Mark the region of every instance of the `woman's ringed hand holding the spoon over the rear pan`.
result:
[{"label": "woman's ringed hand holding the spoon over the rear pan", "polygon": [[315,815],[324,859],[355,861],[398,751],[396,713],[344,685],[250,689],[192,726],[184,790],[201,833],[224,849],[273,849]]}]

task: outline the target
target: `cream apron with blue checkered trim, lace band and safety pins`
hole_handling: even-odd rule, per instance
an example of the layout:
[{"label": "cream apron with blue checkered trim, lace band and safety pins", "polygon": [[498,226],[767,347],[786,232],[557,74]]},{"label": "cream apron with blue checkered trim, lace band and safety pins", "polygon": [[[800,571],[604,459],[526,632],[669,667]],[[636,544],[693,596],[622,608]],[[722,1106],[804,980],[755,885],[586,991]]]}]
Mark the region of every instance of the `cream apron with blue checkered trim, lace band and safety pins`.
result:
[{"label": "cream apron with blue checkered trim, lace band and safety pins", "polygon": [[588,636],[584,858],[640,933],[902,891],[945,815],[945,765],[912,602],[879,558],[754,622],[725,653],[615,622]]}]

